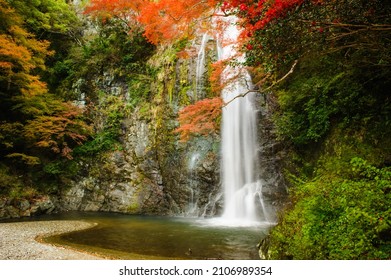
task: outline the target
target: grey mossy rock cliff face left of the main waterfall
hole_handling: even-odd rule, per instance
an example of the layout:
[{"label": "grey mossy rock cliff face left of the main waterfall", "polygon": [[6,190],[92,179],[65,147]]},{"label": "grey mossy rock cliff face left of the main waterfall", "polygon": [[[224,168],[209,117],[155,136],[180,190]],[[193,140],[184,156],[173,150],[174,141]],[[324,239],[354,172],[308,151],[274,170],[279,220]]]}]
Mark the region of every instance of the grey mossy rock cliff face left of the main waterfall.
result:
[{"label": "grey mossy rock cliff face left of the main waterfall", "polygon": [[[194,59],[158,50],[149,62],[157,71],[148,85],[152,97],[125,114],[119,147],[79,162],[80,172],[61,193],[59,209],[192,216],[219,212],[218,134],[183,144],[174,133],[179,109],[201,98],[194,90]],[[95,87],[133,104],[128,84],[108,74],[115,73],[112,69],[105,73],[95,77]],[[105,118],[96,118],[94,126],[103,126]]]}]

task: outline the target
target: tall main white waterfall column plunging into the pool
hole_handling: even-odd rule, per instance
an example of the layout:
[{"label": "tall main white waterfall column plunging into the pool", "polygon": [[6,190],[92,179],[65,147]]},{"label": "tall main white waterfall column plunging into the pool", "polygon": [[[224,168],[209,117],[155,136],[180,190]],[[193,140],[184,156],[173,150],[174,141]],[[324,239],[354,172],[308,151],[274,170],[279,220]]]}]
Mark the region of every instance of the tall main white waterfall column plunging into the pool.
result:
[{"label": "tall main white waterfall column plunging into the pool", "polygon": [[[228,18],[231,22],[234,18]],[[218,50],[220,60],[237,56],[235,42],[239,30],[233,24],[223,34]],[[243,61],[242,56],[237,57]],[[222,117],[222,185],[224,212],[222,218],[229,221],[268,221],[262,199],[262,183],[257,175],[257,111],[255,93],[249,73],[243,67],[227,66],[222,74],[225,88],[222,98],[229,102],[223,108]],[[244,97],[236,98],[245,94]]]}]

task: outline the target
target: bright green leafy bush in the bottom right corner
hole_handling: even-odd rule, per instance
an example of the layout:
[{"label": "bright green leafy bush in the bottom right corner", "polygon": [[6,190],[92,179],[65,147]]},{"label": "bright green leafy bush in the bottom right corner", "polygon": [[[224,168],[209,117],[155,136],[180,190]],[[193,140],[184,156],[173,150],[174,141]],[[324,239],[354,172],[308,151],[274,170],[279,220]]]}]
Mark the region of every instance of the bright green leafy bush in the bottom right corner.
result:
[{"label": "bright green leafy bush in the bottom right corner", "polygon": [[343,173],[297,186],[297,203],[273,230],[273,258],[389,258],[391,169],[353,158]]}]

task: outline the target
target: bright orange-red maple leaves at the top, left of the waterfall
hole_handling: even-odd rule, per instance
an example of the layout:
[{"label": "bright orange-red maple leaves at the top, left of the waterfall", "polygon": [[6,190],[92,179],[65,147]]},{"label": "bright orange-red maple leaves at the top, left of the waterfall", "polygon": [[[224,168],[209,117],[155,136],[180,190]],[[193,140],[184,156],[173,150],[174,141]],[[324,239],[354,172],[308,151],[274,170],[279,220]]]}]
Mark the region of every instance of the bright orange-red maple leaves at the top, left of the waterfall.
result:
[{"label": "bright orange-red maple leaves at the top, left of the waterfall", "polygon": [[189,37],[209,27],[218,0],[91,0],[85,12],[103,20],[119,17],[129,26],[141,23],[153,44]]}]

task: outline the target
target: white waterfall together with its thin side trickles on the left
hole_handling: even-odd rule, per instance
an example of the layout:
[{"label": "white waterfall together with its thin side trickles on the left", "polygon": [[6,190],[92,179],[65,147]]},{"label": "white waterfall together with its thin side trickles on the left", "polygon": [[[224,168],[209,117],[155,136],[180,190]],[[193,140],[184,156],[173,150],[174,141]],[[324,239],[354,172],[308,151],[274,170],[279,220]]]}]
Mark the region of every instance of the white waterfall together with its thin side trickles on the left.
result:
[{"label": "white waterfall together with its thin side trickles on the left", "polygon": [[[224,209],[218,223],[240,225],[259,222],[272,222],[268,208],[263,200],[260,178],[258,111],[255,106],[256,93],[250,74],[245,67],[244,56],[237,52],[237,40],[240,31],[235,24],[235,17],[226,17],[227,26],[217,39],[217,59],[239,63],[225,67],[221,81],[224,85],[222,98],[228,103],[223,108],[221,128],[221,182],[224,197]],[[200,40],[195,69],[195,96],[204,96],[204,74],[206,71],[206,46],[213,39],[204,34]],[[196,98],[196,99],[197,99]],[[185,216],[198,216],[206,213],[216,198],[209,197],[204,210],[198,205],[198,186],[195,180],[196,165],[202,162],[199,151],[189,156],[189,205]],[[204,214],[203,214],[204,215]]]}]

